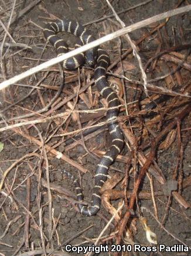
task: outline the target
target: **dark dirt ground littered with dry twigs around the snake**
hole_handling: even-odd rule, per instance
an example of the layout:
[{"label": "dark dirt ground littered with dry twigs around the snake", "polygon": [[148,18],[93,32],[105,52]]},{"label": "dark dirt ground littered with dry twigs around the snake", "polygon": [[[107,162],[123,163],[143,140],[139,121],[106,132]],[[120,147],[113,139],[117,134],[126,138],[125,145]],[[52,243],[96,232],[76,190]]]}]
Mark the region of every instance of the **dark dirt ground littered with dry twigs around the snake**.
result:
[{"label": "dark dirt ground littered with dry twigs around the snake", "polygon": [[[13,18],[34,2],[16,2]],[[120,18],[127,26],[191,4],[189,0],[110,2],[116,12],[124,11]],[[141,6],[125,11],[138,4]],[[1,21],[6,26],[12,6],[13,1],[0,1]],[[121,28],[114,16],[107,17],[109,14],[112,11],[106,1],[36,1],[32,8],[10,25],[10,36],[6,36],[1,52],[1,82],[56,56],[53,46],[46,45],[43,37],[43,27],[54,16],[71,18],[84,25],[90,22],[86,25],[87,29],[95,38],[100,38]],[[90,202],[100,151],[106,151],[111,145],[107,125],[89,135],[84,134],[86,146],[79,132],[81,128],[105,121],[105,111],[96,114],[88,112],[107,107],[94,83],[84,92],[79,91],[87,87],[93,78],[93,70],[81,68],[80,78],[78,71],[64,71],[64,88],[59,98],[42,112],[38,111],[52,101],[63,82],[59,65],[43,69],[1,91],[1,255],[68,255],[67,244],[87,248],[96,242],[123,201],[118,218],[115,216],[101,234],[98,245],[106,248],[106,245],[120,241],[125,252],[118,252],[118,255],[190,255],[186,249],[183,251],[183,247],[175,252],[172,248],[174,245],[191,248],[190,14],[185,12],[173,16],[169,21],[154,22],[129,34],[137,44],[146,77],[148,81],[151,80],[148,97],[142,86],[139,63],[129,50],[127,37],[121,36],[121,39],[114,39],[102,46],[110,55],[111,64],[116,61],[107,78],[112,82],[115,80],[114,84],[118,86],[122,85],[125,92],[120,99],[123,105],[120,108],[120,125],[125,145],[121,158],[110,167],[110,179],[105,184],[107,189],[112,189],[110,196],[111,193],[116,195],[117,191],[121,191],[121,196],[116,200],[110,197],[108,207],[104,207],[106,202],[103,202],[96,216],[84,217],[79,213],[73,182],[60,171],[66,169],[80,178],[84,200]],[[95,22],[104,16],[104,20]],[[2,29],[1,45],[4,35]],[[74,36],[60,36],[66,39],[67,44],[74,43]],[[127,55],[120,61],[119,57],[125,52]],[[127,79],[122,79],[122,75]],[[162,76],[165,77],[152,81]],[[124,107],[125,98],[130,103],[127,109]],[[73,108],[79,110],[80,114],[73,111],[72,115],[55,117]],[[26,124],[16,127],[22,122]],[[59,153],[63,155],[59,157]],[[148,164],[150,160],[151,165]],[[146,175],[144,168],[148,170]],[[136,188],[137,181],[139,189],[137,198],[133,200],[131,192]],[[127,191],[125,200],[124,189]],[[103,200],[106,201],[107,196],[104,195]],[[129,212],[131,216],[127,225],[125,223],[122,227]],[[147,221],[145,226],[144,220]],[[157,245],[147,240],[149,231],[146,232],[145,227],[156,234]],[[120,231],[121,237],[118,235]],[[134,248],[134,244],[141,245],[142,250],[145,246],[153,245],[157,251],[127,252],[130,247],[126,245]],[[171,246],[171,251],[160,252],[159,245],[162,244]],[[77,252],[70,254],[77,255]],[[114,255],[114,252],[87,255]]]}]

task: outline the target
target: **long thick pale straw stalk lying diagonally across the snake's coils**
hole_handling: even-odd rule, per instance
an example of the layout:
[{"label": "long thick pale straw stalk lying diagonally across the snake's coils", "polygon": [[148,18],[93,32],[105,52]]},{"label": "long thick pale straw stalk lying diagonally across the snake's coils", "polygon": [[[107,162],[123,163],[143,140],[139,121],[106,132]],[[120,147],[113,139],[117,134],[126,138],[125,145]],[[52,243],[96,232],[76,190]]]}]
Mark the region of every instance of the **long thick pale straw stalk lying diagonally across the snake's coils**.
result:
[{"label": "long thick pale straw stalk lying diagonally across the snake's coils", "polygon": [[151,18],[145,19],[144,21],[139,21],[133,25],[127,26],[126,28],[122,28],[118,31],[111,33],[111,34],[105,35],[100,39],[90,42],[89,44],[83,45],[80,48],[74,49],[73,51],[67,52],[64,55],[57,56],[56,58],[53,58],[50,61],[44,62],[37,67],[31,68],[28,71],[23,72],[22,74],[16,75],[15,77],[2,82],[0,84],[0,89],[4,89],[4,88],[8,87],[9,85],[14,84],[15,82],[18,82],[19,80],[21,80],[23,78],[29,77],[30,75],[33,75],[36,72],[41,71],[44,68],[48,68],[52,65],[55,65],[61,61],[64,61],[65,59],[68,59],[72,56],[80,54],[81,52],[85,52],[88,49],[94,48],[100,44],[103,44],[104,42],[107,42],[114,38],[117,38],[118,36],[132,32],[135,29],[142,28],[143,26],[147,26],[153,22],[160,21],[161,19],[165,19],[170,16],[182,14],[183,12],[189,12],[190,10],[191,10],[191,5],[183,6],[178,9],[173,9],[168,12],[163,12],[162,14],[152,16]]}]

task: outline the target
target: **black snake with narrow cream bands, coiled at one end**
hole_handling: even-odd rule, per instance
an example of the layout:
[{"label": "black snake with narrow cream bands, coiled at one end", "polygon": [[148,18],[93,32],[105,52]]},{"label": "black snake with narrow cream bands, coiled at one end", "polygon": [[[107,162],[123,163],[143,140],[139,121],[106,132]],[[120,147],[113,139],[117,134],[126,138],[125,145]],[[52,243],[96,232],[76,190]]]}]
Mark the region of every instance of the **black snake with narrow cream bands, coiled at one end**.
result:
[{"label": "black snake with narrow cream bands, coiled at one end", "polygon": [[[56,48],[57,55],[61,55],[67,52],[66,43],[63,41],[63,39],[60,39],[58,36],[56,36],[56,34],[61,31],[69,32],[79,37],[79,42],[76,44],[76,47],[94,41],[93,36],[91,36],[86,31],[86,28],[84,28],[76,21],[71,21],[70,19],[63,19],[50,22],[46,25],[43,32],[47,41],[49,41],[50,44],[52,44]],[[94,70],[94,81],[96,82],[97,89],[98,91],[100,91],[100,94],[105,99],[107,99],[108,108],[111,108],[107,111],[107,121],[109,122],[108,129],[110,131],[112,145],[97,165],[95,186],[92,195],[93,202],[90,207],[83,204],[78,204],[81,214],[91,216],[96,215],[97,212],[100,210],[101,197],[99,190],[107,179],[108,169],[110,165],[112,164],[112,162],[114,162],[117,155],[121,152],[121,149],[124,145],[124,139],[121,129],[117,123],[117,106],[120,104],[120,102],[118,100],[117,94],[110,87],[108,87],[107,80],[105,78],[105,73],[110,62],[110,58],[107,55],[107,52],[99,48],[90,49],[86,52],[85,58],[84,54],[76,55],[73,58],[69,58],[64,61],[63,67],[67,69],[74,69],[80,67],[84,64],[85,59],[86,64],[90,65],[91,67],[96,62],[96,68]],[[63,172],[65,172],[69,178],[74,179],[73,175],[69,174],[66,171]],[[79,202],[82,202],[83,194],[79,185],[79,181],[75,179],[74,184],[76,187],[77,200]]]}]

